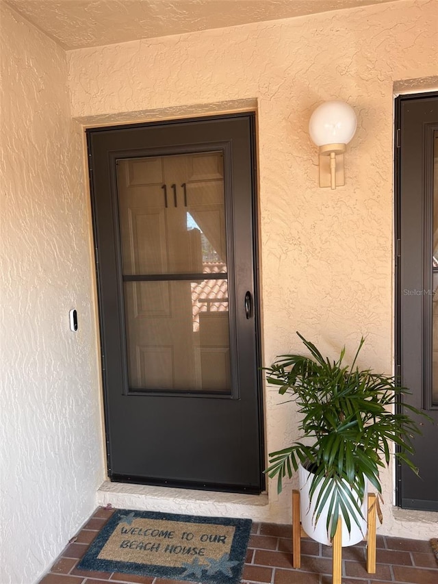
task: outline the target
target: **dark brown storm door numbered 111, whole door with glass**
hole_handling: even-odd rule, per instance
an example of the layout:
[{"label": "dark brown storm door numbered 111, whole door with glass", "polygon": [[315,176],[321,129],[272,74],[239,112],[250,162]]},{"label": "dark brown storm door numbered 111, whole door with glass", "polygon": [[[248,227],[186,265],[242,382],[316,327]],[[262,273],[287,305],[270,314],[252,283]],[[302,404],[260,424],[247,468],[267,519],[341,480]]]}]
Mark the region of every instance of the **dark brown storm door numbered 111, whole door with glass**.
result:
[{"label": "dark brown storm door numbered 111, whole door with glass", "polygon": [[113,481],[264,488],[254,121],[88,130]]}]

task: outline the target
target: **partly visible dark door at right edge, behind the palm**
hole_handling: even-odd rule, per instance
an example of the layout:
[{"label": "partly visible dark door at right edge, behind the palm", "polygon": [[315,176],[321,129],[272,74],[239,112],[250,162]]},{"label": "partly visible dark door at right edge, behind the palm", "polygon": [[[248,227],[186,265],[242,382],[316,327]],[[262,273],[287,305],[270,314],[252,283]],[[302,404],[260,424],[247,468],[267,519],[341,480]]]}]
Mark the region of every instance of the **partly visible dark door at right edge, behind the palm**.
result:
[{"label": "partly visible dark door at right edge, behind the palm", "polygon": [[[398,366],[419,418],[413,461],[398,468],[398,505],[438,511],[438,94],[396,100]],[[409,414],[409,411],[407,411]]]}]

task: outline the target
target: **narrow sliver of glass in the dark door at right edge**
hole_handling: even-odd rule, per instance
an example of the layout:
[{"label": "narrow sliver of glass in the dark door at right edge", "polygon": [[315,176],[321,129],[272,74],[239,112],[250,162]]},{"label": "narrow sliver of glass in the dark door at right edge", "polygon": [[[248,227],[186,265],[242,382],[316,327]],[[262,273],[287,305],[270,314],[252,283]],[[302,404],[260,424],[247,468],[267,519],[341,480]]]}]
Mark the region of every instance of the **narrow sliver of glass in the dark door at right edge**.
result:
[{"label": "narrow sliver of glass in the dark door at right edge", "polygon": [[438,132],[433,152],[433,385],[432,403],[438,405]]}]

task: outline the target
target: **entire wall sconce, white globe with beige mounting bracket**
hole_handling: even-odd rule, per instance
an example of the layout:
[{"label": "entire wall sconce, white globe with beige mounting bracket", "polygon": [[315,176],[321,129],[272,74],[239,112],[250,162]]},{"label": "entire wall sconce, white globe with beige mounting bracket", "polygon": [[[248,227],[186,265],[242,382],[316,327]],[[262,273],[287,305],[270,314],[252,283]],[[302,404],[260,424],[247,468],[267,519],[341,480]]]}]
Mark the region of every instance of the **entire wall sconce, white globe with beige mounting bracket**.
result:
[{"label": "entire wall sconce, white globe with beige mounting bracket", "polygon": [[309,134],[320,147],[320,187],[344,186],[344,152],[356,131],[356,114],[344,101],[326,101],[311,115]]}]

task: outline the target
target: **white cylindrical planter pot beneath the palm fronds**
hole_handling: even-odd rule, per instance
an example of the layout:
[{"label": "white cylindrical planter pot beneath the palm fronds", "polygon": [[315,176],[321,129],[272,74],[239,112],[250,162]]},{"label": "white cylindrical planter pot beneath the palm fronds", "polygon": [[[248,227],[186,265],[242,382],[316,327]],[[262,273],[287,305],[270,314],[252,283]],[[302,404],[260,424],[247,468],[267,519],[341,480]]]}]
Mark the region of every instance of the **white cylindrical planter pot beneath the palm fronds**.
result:
[{"label": "white cylindrical planter pot beneath the palm fronds", "polygon": [[[298,468],[298,476],[300,479],[300,515],[301,515],[301,524],[302,529],[311,537],[315,539],[316,542],[320,542],[321,544],[325,544],[326,546],[331,546],[330,537],[327,534],[326,522],[327,522],[327,514],[329,511],[329,500],[327,501],[325,508],[322,510],[322,513],[318,519],[318,522],[315,524],[315,516],[313,513],[315,512],[315,503],[318,499],[318,494],[321,490],[321,485],[318,485],[315,492],[312,496],[312,501],[309,503],[309,491],[312,483],[312,479],[314,477],[311,472],[306,470],[303,466],[299,466]],[[346,489],[350,490],[350,487],[347,483],[345,483]],[[342,514],[339,517],[342,520],[342,547],[347,546],[354,546],[358,542],[361,542],[362,539],[365,537],[367,533],[367,512],[368,512],[368,496],[366,492],[366,483],[365,483],[365,498],[361,504],[361,511],[363,518],[359,517],[359,524],[361,528],[357,526],[357,523],[353,518],[350,518],[351,529],[350,533],[348,533],[348,529]],[[359,501],[359,499],[357,499]]]}]

